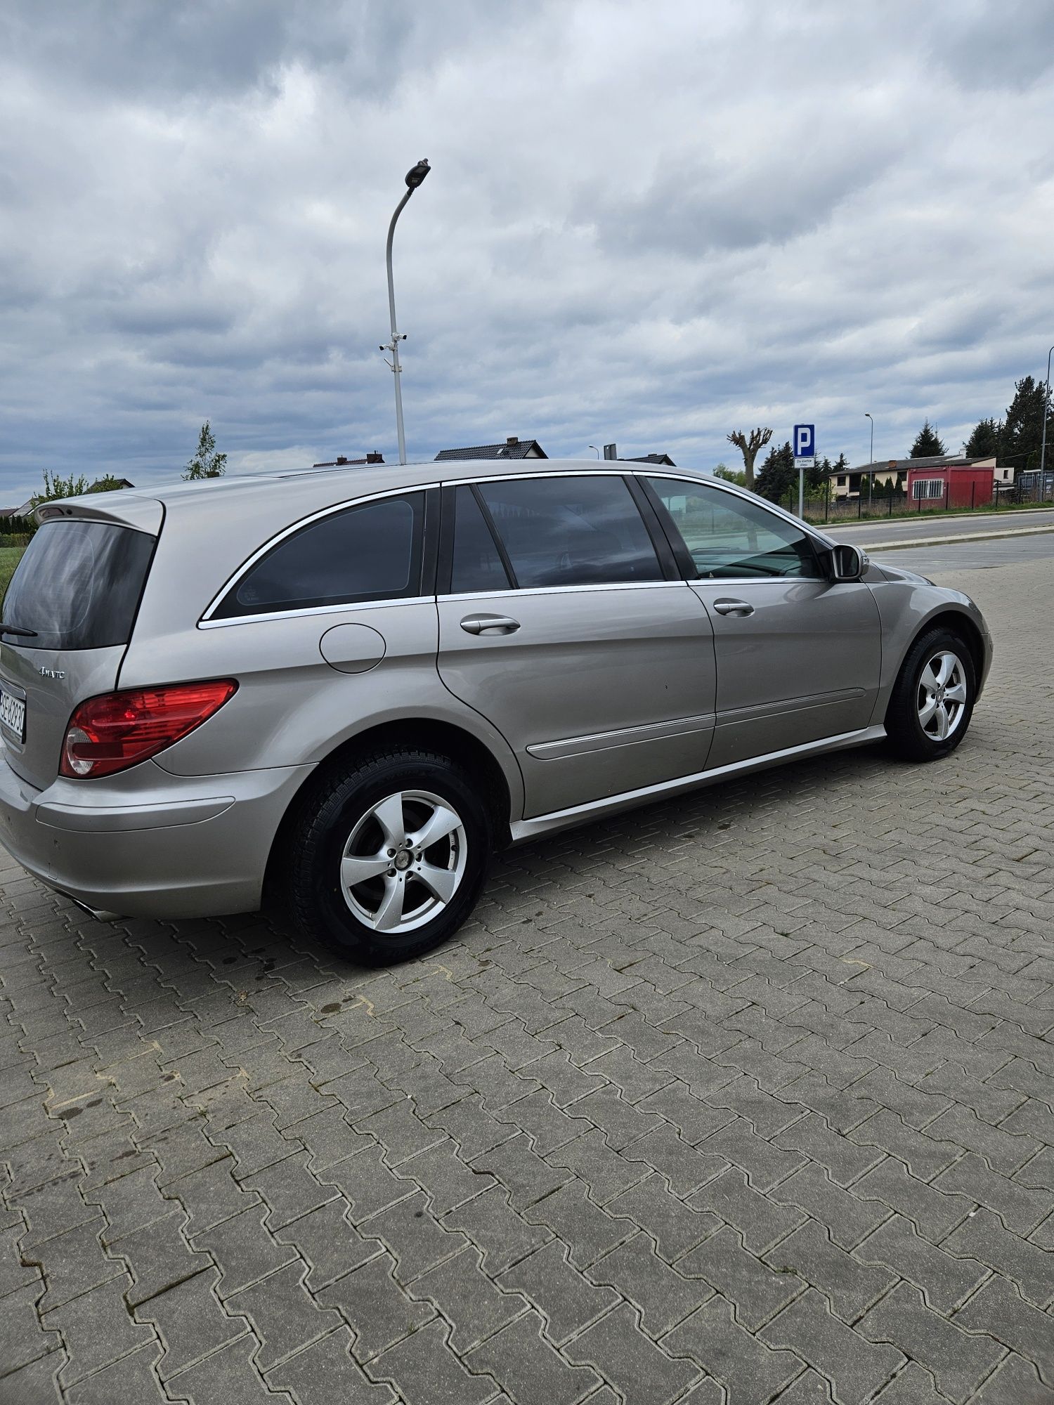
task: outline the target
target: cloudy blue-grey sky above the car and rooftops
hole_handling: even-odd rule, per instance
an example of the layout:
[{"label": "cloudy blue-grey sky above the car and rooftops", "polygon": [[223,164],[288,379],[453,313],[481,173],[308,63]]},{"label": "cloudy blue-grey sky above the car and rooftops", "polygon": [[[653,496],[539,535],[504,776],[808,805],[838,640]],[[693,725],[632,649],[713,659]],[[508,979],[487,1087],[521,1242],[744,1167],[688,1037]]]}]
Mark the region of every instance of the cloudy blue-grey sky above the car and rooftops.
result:
[{"label": "cloudy blue-grey sky above the car and rooftops", "polygon": [[1048,0],[6,0],[0,503],[534,436],[958,448],[1054,341]]}]

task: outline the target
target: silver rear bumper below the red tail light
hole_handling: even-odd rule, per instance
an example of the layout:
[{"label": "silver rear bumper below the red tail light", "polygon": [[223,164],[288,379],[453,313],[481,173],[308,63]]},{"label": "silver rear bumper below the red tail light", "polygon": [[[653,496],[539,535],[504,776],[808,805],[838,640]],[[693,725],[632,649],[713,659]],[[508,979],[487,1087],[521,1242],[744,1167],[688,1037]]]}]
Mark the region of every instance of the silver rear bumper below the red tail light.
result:
[{"label": "silver rear bumper below the red tail light", "polygon": [[110,784],[56,780],[38,791],[0,754],[0,842],[35,878],[98,912],[250,912],[312,769],[171,776],[146,762]]}]

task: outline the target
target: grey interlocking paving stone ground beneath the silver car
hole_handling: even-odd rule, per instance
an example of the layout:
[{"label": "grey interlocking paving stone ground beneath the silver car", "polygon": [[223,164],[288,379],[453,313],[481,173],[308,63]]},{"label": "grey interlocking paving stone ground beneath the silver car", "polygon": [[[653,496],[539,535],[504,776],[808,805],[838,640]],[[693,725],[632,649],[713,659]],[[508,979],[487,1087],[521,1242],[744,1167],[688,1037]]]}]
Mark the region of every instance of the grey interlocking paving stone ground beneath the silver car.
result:
[{"label": "grey interlocking paving stone ground beneath the silver car", "polygon": [[0,1402],[1054,1399],[1051,562],[946,763],[503,856],[458,941],[0,873]]}]

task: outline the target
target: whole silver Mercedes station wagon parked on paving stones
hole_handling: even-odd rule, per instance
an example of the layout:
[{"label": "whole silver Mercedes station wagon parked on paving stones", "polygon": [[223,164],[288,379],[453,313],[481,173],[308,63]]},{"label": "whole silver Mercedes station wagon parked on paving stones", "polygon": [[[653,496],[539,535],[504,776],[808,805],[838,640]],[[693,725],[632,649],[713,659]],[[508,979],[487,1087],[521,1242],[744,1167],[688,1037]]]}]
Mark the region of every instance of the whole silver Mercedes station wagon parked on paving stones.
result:
[{"label": "whole silver Mercedes station wagon parked on paving stones", "polygon": [[38,517],[0,625],[6,846],[96,913],[281,899],[365,962],[455,932],[505,844],[861,742],[947,756],[991,660],[967,596],[682,469],[299,472]]}]

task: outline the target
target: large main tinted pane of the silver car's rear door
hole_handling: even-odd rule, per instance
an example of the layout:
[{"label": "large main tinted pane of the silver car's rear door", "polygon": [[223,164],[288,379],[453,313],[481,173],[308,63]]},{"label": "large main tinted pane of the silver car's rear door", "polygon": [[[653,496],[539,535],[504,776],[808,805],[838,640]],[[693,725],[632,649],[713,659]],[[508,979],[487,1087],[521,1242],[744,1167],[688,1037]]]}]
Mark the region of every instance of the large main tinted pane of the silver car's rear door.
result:
[{"label": "large main tinted pane of the silver car's rear door", "polygon": [[663,579],[621,478],[531,478],[478,488],[521,590]]}]

